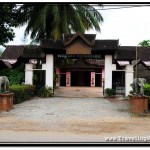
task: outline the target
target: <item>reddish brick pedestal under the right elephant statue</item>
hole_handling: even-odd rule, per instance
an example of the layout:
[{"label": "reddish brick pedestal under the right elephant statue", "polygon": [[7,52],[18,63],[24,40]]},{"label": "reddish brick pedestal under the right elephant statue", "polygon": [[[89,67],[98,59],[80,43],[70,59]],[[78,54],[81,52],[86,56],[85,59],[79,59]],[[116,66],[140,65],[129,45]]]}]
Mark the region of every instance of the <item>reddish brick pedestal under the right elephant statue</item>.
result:
[{"label": "reddish brick pedestal under the right elephant statue", "polygon": [[130,95],[131,112],[136,114],[145,114],[148,111],[149,96]]}]

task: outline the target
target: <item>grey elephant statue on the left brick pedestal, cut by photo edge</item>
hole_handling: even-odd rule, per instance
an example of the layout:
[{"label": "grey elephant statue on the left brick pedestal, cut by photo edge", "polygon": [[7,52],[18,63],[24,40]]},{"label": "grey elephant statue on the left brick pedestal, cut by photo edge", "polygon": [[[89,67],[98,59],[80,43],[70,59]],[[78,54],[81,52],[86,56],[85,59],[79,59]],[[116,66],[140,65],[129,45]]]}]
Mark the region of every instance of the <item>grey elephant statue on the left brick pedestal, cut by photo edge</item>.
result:
[{"label": "grey elephant statue on the left brick pedestal, cut by photo edge", "polygon": [[8,90],[9,80],[6,76],[0,76],[0,93],[2,91],[2,86],[4,87],[4,93],[9,92]]}]

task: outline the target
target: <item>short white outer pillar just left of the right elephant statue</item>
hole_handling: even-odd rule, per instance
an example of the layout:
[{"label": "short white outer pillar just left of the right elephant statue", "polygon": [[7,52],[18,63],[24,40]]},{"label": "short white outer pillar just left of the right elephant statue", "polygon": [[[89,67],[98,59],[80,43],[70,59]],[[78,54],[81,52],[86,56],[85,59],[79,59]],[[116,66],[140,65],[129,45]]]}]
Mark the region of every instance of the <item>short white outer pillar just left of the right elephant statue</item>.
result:
[{"label": "short white outer pillar just left of the right elephant statue", "polygon": [[126,65],[125,72],[125,96],[129,95],[129,92],[132,90],[131,84],[133,83],[133,65]]}]

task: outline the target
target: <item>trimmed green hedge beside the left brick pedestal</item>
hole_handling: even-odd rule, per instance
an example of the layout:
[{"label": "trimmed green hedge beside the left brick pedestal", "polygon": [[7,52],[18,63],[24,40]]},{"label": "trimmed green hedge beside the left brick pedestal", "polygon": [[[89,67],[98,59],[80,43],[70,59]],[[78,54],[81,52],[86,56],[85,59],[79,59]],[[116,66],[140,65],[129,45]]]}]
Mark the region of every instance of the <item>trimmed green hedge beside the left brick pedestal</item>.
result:
[{"label": "trimmed green hedge beside the left brick pedestal", "polygon": [[12,85],[9,91],[14,93],[14,104],[18,104],[33,97],[36,87],[34,85]]}]

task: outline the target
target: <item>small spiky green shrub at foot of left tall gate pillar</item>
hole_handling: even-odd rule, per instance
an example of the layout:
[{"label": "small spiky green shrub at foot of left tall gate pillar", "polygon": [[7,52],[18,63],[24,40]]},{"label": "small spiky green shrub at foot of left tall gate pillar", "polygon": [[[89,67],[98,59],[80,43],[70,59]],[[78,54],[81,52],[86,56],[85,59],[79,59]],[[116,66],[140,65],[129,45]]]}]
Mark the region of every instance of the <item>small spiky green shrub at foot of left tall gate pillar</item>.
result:
[{"label": "small spiky green shrub at foot of left tall gate pillar", "polygon": [[42,87],[38,91],[38,96],[40,97],[51,97],[53,95],[53,90],[51,87]]}]

